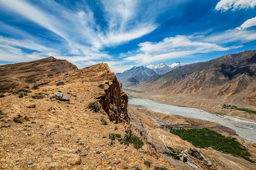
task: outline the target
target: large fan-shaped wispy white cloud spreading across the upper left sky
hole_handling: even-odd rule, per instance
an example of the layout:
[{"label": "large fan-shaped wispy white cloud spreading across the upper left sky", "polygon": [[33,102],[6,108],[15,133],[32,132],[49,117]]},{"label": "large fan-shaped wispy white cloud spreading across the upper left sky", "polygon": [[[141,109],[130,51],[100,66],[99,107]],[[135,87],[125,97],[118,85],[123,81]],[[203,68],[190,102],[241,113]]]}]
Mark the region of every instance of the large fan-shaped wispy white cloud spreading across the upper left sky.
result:
[{"label": "large fan-shaped wispy white cloud spreading across the upper left sky", "polygon": [[[105,47],[126,43],[157,28],[155,18],[137,19],[137,16],[141,15],[136,10],[138,8],[137,1],[102,1],[103,18],[106,21],[106,25],[103,26],[97,23],[96,14],[87,4],[78,5],[76,10],[70,10],[53,0],[39,1],[38,4],[26,0],[0,0],[0,5],[9,9],[14,17],[21,15],[26,20],[58,35],[54,39],[58,41],[58,45],[61,47],[55,46],[54,53],[59,50],[59,54],[62,55],[90,56],[92,60],[95,60],[95,56],[100,54],[101,57],[108,56],[107,58],[110,59],[110,56],[102,51]],[[42,5],[45,8],[41,8]],[[17,29],[16,31],[8,29],[9,34],[12,34],[11,30],[17,32]],[[22,30],[18,32],[22,32]],[[20,37],[20,40],[13,41],[8,45],[10,47],[19,46],[22,41],[37,39],[30,33],[26,34],[31,35],[29,39],[23,36]],[[48,35],[42,36],[49,39]],[[49,42],[52,44],[51,40]],[[47,40],[44,44],[46,48],[51,50],[49,46],[47,47],[49,45]],[[45,53],[36,46],[27,46],[27,48]],[[64,53],[63,49],[65,49]],[[25,57],[25,55],[22,56]]]}]

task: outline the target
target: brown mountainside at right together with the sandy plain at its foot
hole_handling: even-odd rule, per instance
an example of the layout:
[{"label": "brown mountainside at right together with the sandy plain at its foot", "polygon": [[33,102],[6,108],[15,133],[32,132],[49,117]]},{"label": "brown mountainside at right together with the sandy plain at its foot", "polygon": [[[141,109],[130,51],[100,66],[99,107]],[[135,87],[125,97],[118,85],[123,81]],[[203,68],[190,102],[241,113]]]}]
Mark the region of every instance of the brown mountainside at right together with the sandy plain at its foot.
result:
[{"label": "brown mountainside at right together with the sandy plain at its foot", "polygon": [[227,112],[222,104],[256,109],[256,51],[185,65],[132,88],[168,104],[211,112]]}]

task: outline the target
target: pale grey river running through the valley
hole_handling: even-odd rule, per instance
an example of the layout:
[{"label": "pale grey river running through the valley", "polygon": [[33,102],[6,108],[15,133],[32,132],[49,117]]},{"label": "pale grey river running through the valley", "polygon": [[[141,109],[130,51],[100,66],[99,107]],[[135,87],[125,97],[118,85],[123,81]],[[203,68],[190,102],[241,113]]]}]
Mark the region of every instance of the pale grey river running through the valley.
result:
[{"label": "pale grey river running through the valley", "polygon": [[164,113],[166,115],[179,115],[212,121],[231,128],[236,131],[238,136],[256,143],[256,121],[240,119],[238,117],[229,115],[218,115],[197,108],[159,104],[147,99],[129,98],[128,104],[142,106],[147,110],[157,113]]}]

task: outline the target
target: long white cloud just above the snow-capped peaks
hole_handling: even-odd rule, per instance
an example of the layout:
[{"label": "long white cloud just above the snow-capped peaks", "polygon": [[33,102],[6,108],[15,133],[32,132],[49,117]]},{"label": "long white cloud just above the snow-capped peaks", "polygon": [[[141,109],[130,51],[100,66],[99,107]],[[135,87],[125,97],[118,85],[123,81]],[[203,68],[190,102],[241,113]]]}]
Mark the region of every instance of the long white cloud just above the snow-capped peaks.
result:
[{"label": "long white cloud just above the snow-capped peaks", "polygon": [[238,46],[222,47],[216,43],[206,42],[202,36],[177,35],[164,38],[161,42],[143,42],[138,44],[141,53],[124,58],[140,64],[150,64],[157,61],[165,61],[179,57],[187,57],[198,53],[210,53],[213,51],[227,51]]}]

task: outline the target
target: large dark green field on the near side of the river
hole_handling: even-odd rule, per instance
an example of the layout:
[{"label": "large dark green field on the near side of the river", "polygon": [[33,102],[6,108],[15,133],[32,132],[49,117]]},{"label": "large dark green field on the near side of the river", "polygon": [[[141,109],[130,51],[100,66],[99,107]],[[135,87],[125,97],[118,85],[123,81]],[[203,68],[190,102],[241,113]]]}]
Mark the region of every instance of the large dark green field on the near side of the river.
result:
[{"label": "large dark green field on the near side of the river", "polygon": [[185,141],[189,141],[197,148],[212,147],[220,152],[242,157],[250,162],[251,157],[247,148],[242,146],[235,138],[225,137],[213,130],[207,128],[202,129],[180,129],[171,130],[171,133],[178,135]]}]

